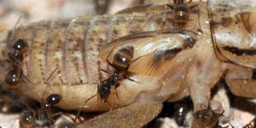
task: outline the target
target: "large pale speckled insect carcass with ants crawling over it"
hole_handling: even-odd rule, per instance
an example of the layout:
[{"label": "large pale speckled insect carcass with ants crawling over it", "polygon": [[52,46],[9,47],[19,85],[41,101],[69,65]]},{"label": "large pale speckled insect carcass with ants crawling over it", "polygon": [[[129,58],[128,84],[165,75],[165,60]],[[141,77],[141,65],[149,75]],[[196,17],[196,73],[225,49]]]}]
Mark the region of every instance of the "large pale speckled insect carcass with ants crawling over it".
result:
[{"label": "large pale speckled insect carcass with ants crawling over it", "polygon": [[[15,33],[23,38],[35,41],[48,38],[44,42],[28,43],[22,69],[29,80],[36,83],[36,89],[26,90],[28,85],[23,83],[20,92],[39,101],[47,74],[60,67],[59,77],[51,81],[55,83],[52,88],[70,104],[60,102],[59,106],[78,110],[84,99],[96,94],[97,83],[108,77],[99,72],[100,68],[108,68],[99,57],[105,59],[114,46],[113,54],[129,44],[135,48],[134,58],[157,50],[129,67],[131,78],[141,80],[143,84],[121,81],[123,87],[117,89],[120,106],[134,102],[176,101],[191,95],[197,111],[202,104],[208,106],[210,89],[224,72],[235,95],[255,97],[252,91],[255,90],[254,80],[251,79],[251,68],[256,64],[256,28],[252,26],[255,7],[234,1],[208,1],[207,5],[199,3],[199,6],[202,32],[198,31],[197,15],[190,14],[185,30],[180,32],[174,26],[173,14],[168,13],[167,24],[160,31],[162,14],[146,12],[47,20],[21,26]],[[219,17],[220,14],[224,16]],[[15,33],[10,30],[9,34],[1,36],[5,37],[1,45],[5,53],[10,50],[10,43],[18,38]],[[52,34],[58,35],[53,37]],[[116,45],[119,36],[121,43]],[[100,49],[104,50],[99,52]],[[6,70],[1,69],[1,72],[3,79]],[[109,110],[106,104],[95,102],[90,100],[83,110]],[[109,102],[117,108],[114,93]]]}]

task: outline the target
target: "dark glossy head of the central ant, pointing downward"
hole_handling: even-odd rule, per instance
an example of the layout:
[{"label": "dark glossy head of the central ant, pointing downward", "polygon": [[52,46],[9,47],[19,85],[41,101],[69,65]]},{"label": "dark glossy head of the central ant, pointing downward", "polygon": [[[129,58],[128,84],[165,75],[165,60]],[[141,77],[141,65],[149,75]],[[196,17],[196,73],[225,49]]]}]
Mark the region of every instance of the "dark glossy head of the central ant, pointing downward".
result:
[{"label": "dark glossy head of the central ant, pointing downward", "polygon": [[111,93],[111,86],[106,83],[99,83],[98,94],[100,96],[100,100],[104,103],[107,102],[108,97]]}]

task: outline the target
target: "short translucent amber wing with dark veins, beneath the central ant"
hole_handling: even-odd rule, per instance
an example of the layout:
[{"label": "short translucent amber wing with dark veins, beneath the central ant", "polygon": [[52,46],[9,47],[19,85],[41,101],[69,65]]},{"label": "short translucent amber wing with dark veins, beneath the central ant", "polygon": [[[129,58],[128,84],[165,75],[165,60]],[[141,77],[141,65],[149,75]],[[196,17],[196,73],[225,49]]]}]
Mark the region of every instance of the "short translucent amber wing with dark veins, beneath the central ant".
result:
[{"label": "short translucent amber wing with dark veins, beneath the central ant", "polygon": [[[105,60],[113,49],[109,61],[113,61],[113,55],[126,46],[134,47],[132,60],[140,58],[132,63],[128,69],[133,73],[157,76],[172,65],[172,60],[182,50],[186,50],[188,40],[195,37],[195,33],[185,31],[179,33],[177,29],[163,31],[148,31],[134,35],[128,35],[108,43],[100,50],[100,57]],[[193,36],[193,37],[192,37]],[[192,39],[194,41],[194,38]],[[147,55],[148,54],[148,55]]]}]

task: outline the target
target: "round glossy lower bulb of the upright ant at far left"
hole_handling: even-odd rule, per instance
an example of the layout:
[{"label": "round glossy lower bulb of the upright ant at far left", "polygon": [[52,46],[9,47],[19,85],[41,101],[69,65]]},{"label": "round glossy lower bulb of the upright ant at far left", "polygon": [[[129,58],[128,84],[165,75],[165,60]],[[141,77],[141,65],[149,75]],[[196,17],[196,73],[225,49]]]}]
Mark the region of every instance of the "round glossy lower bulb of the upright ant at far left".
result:
[{"label": "round glossy lower bulb of the upright ant at far left", "polygon": [[11,88],[17,88],[20,81],[20,74],[16,70],[9,70],[4,78],[4,82]]}]

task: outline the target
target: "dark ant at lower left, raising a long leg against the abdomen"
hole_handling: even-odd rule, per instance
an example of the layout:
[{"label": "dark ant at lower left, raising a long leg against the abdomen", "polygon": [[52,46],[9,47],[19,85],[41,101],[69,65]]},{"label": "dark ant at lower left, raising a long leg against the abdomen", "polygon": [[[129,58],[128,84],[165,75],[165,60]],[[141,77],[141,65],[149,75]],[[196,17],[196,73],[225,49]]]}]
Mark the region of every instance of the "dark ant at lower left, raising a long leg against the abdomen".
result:
[{"label": "dark ant at lower left, raising a long leg against the abdomen", "polygon": [[[46,88],[47,86],[51,89],[48,80],[50,79],[50,77],[53,75],[53,73],[58,69],[58,67],[50,74],[50,76],[47,78],[46,80]],[[27,106],[27,108],[29,110],[25,110],[22,112],[20,119],[19,119],[19,123],[21,127],[34,127],[35,125],[37,126],[37,124],[35,123],[36,120],[40,120],[40,119],[45,119],[48,118],[50,119],[50,121],[52,123],[54,123],[54,119],[52,117],[57,116],[57,115],[66,115],[69,116],[67,114],[64,114],[62,112],[58,112],[58,113],[51,113],[51,107],[58,104],[61,100],[62,100],[62,95],[61,94],[51,94],[47,97],[47,101],[44,102],[43,98],[45,95],[45,91],[46,88],[43,92],[42,95],[42,100],[41,100],[41,108],[37,109],[36,111],[33,110],[29,105],[27,105],[25,102],[23,102],[23,104],[25,104]],[[52,91],[52,89],[51,89]],[[69,116],[70,117],[70,116]],[[72,117],[71,117],[72,118]]]}]

